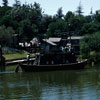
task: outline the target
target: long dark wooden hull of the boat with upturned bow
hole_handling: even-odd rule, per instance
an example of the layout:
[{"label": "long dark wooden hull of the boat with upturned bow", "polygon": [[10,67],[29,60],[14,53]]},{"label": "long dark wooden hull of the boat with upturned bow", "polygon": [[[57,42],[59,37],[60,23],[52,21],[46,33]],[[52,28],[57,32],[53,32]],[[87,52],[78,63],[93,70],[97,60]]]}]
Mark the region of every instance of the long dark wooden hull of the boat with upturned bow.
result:
[{"label": "long dark wooden hull of the boat with upturned bow", "polygon": [[24,72],[39,72],[39,71],[55,71],[55,70],[69,70],[69,69],[83,69],[87,60],[71,63],[71,64],[56,64],[56,65],[28,65],[20,64]]}]

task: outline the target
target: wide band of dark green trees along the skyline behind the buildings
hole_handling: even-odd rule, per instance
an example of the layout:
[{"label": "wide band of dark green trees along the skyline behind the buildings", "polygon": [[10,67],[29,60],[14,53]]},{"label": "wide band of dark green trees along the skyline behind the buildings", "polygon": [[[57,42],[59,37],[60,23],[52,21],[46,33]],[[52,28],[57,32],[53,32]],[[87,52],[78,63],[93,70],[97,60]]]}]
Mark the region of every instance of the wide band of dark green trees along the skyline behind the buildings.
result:
[{"label": "wide band of dark green trees along the skyline behind the buildings", "polygon": [[[20,41],[29,41],[40,34],[50,37],[68,31],[74,31],[74,35],[93,34],[100,31],[100,11],[83,16],[81,3],[77,8],[77,14],[68,11],[63,15],[61,7],[54,16],[44,14],[40,4],[36,2],[22,5],[20,0],[15,0],[13,7],[7,5],[7,0],[3,0],[3,3],[5,6],[0,6],[0,26],[11,27],[16,34],[19,34]],[[70,27],[68,27],[69,24]]]}]

